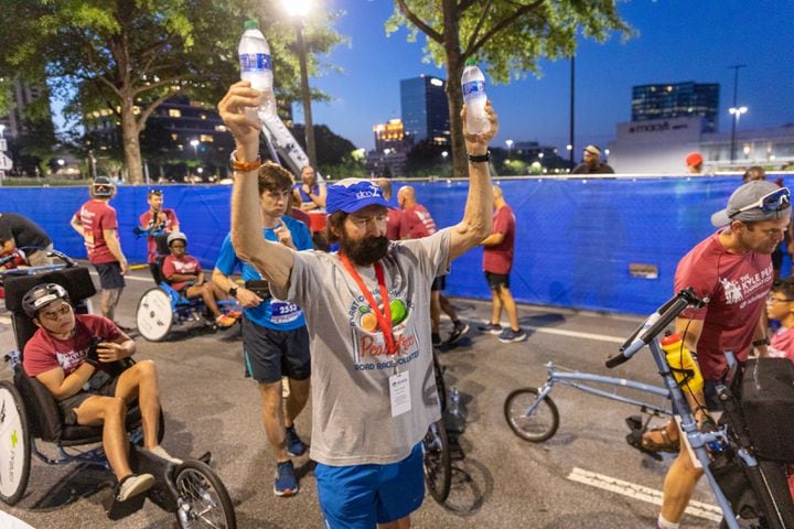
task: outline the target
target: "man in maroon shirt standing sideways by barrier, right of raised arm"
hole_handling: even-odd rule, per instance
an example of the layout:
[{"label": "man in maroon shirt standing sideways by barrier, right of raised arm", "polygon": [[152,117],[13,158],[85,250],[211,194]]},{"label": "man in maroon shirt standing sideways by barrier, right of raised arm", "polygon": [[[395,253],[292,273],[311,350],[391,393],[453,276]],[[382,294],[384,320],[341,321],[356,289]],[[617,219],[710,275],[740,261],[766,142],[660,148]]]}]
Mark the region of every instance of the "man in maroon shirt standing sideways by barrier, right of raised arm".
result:
[{"label": "man in maroon shirt standing sideways by barrier, right of raised arm", "polygon": [[[524,342],[527,334],[518,324],[518,309],[509,291],[509,272],[513,268],[513,251],[515,248],[515,215],[513,209],[505,202],[504,193],[498,185],[493,186],[494,195],[494,218],[493,230],[482,245],[483,271],[485,280],[491,288],[493,309],[491,321],[487,325],[480,327],[490,334],[498,334],[500,342],[509,344]],[[507,313],[509,328],[502,328],[502,309]]]}]

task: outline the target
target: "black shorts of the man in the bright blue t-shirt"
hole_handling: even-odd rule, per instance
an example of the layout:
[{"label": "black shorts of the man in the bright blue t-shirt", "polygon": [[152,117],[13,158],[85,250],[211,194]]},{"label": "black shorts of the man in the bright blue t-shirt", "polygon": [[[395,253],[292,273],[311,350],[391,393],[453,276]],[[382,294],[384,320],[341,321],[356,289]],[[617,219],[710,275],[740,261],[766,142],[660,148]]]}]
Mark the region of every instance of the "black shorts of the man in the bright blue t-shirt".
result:
[{"label": "black shorts of the man in the bright blue t-shirt", "polygon": [[311,375],[309,331],[262,327],[243,316],[243,357],[246,376],[257,382],[272,384],[281,377],[305,380]]}]

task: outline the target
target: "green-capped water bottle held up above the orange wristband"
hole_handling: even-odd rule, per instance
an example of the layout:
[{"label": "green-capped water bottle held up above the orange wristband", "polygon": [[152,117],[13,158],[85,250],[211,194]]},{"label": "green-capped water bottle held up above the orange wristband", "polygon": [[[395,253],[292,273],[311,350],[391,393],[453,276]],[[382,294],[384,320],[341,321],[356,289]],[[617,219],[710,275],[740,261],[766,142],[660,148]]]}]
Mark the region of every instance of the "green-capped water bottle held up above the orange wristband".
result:
[{"label": "green-capped water bottle held up above the orange wristband", "polygon": [[251,88],[265,93],[265,102],[258,108],[246,109],[248,117],[258,118],[261,122],[276,115],[276,98],[272,89],[270,46],[259,31],[259,23],[256,20],[246,21],[237,53],[240,61],[240,79],[249,80]]}]

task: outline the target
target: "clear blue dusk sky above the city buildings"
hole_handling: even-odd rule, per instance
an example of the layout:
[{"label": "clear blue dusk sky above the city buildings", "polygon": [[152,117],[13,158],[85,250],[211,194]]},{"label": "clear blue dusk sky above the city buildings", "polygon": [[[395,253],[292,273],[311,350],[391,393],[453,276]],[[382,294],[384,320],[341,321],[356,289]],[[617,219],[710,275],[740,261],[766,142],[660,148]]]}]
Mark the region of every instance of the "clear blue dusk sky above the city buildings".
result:
[{"label": "clear blue dusk sky above the city buildings", "polygon": [[[374,148],[372,127],[400,117],[399,80],[443,68],[422,63],[425,36],[408,43],[407,31],[386,36],[388,0],[318,0],[318,9],[342,10],[336,26],[350,37],[326,57],[344,73],[311,78],[334,100],[314,104],[315,123],[325,123],[356,147]],[[739,105],[749,108],[739,129],[794,123],[794,1],[633,0],[619,2],[637,31],[625,43],[614,35],[603,44],[580,39],[576,71],[576,144],[605,145],[615,123],[631,119],[631,87],[651,83],[720,84],[720,131],[730,131],[733,69],[739,72]],[[278,57],[273,57],[275,61]],[[568,142],[570,66],[543,61],[543,77],[527,75],[486,89],[502,129],[496,143]],[[487,83],[487,72],[486,72]],[[455,79],[460,82],[460,79]],[[276,79],[278,83],[278,79]],[[296,105],[296,119],[302,109]]]}]

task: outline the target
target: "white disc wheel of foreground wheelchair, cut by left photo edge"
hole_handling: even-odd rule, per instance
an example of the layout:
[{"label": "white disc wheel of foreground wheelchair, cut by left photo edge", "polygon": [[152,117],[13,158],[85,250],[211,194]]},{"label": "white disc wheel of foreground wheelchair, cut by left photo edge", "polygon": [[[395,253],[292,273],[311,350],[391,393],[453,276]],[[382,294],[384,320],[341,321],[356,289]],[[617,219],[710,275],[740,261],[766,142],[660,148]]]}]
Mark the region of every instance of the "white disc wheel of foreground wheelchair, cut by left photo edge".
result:
[{"label": "white disc wheel of foreground wheelchair, cut by left photo edge", "polygon": [[22,498],[30,477],[30,429],[28,415],[13,384],[0,382],[0,500],[14,505]]}]

